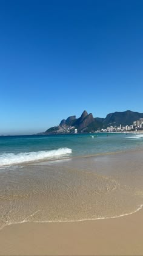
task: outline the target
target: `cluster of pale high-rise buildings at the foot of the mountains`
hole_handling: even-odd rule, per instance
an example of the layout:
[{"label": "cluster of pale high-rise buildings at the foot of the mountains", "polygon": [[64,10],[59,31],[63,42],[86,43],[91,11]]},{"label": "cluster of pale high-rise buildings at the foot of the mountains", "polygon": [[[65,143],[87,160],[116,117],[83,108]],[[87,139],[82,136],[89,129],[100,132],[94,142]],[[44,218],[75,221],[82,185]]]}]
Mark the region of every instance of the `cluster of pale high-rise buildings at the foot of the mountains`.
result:
[{"label": "cluster of pale high-rise buildings at the foot of the mountains", "polygon": [[137,121],[134,121],[131,126],[125,126],[122,127],[121,124],[119,127],[117,126],[109,126],[106,129],[98,130],[98,132],[127,132],[127,131],[137,131],[137,130],[143,130],[143,118],[140,118]]}]

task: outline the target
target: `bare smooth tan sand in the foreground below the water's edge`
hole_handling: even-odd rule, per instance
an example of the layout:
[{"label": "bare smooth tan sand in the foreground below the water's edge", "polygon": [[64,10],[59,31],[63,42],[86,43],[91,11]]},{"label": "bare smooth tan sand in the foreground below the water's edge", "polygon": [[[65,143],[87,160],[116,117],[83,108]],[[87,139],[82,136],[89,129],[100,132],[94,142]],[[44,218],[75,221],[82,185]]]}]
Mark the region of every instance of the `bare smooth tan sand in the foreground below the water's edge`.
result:
[{"label": "bare smooth tan sand in the foreground below the water's edge", "polygon": [[115,219],[13,224],[0,255],[143,255],[143,210]]}]

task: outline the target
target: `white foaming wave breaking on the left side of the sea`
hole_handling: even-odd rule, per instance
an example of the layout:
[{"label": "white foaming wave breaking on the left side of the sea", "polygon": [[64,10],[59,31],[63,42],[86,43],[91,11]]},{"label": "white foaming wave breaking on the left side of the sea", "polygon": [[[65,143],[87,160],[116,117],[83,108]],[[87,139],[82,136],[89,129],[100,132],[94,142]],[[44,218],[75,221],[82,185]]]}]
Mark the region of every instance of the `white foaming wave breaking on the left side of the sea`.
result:
[{"label": "white foaming wave breaking on the left side of the sea", "polygon": [[71,154],[72,150],[68,148],[59,148],[52,151],[24,152],[19,154],[4,153],[0,155],[0,166],[14,165],[18,163],[33,162],[51,158],[62,157],[62,155]]}]

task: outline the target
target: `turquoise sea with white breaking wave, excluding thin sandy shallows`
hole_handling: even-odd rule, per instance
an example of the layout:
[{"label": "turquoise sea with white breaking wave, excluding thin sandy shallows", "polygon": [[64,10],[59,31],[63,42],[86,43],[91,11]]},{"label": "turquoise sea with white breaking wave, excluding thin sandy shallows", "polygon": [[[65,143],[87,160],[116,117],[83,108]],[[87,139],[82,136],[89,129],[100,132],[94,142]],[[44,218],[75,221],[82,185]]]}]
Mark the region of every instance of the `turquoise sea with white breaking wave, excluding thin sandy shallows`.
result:
[{"label": "turquoise sea with white breaking wave, excluding thin sandy shallows", "polygon": [[98,133],[0,137],[0,166],[143,148],[143,135]]}]

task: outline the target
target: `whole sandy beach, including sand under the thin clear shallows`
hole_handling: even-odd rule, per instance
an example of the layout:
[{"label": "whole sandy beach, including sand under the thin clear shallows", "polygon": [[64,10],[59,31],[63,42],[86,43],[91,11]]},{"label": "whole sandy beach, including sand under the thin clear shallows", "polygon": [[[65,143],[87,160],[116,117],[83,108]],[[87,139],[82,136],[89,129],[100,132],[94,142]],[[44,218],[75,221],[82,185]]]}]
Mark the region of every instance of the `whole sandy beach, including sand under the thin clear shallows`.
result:
[{"label": "whole sandy beach, including sand under the thin clear shallows", "polygon": [[142,153],[1,171],[0,255],[143,255]]}]

